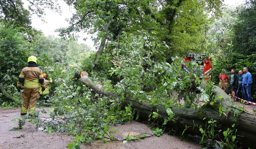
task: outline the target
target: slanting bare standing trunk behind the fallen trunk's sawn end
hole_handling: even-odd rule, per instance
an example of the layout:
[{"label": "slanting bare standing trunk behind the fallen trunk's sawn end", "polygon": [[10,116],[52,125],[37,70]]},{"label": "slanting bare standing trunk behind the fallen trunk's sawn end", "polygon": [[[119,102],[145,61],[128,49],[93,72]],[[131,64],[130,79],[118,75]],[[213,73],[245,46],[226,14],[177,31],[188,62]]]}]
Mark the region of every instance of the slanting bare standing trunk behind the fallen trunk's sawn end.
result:
[{"label": "slanting bare standing trunk behind the fallen trunk's sawn end", "polygon": [[[107,33],[109,31],[109,26],[110,26],[110,21],[107,23],[107,25],[104,29],[104,33]],[[105,43],[106,43],[106,39],[107,39],[107,35],[104,35],[101,39],[99,50],[97,51],[97,53],[95,55],[94,67],[92,68],[94,72],[98,70],[98,61],[99,61],[99,58],[100,58],[100,56],[103,52],[103,49],[104,49],[104,46],[105,46]]]}]

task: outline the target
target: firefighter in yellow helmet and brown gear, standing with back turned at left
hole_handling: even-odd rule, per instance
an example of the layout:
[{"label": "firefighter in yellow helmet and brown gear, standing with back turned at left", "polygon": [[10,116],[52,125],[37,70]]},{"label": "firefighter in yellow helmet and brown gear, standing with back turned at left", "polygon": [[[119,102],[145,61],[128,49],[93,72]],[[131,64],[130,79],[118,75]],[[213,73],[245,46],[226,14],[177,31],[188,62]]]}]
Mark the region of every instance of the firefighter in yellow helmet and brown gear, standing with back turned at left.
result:
[{"label": "firefighter in yellow helmet and brown gear, standing with back turned at left", "polygon": [[28,66],[23,68],[17,83],[18,91],[24,83],[24,91],[22,93],[21,115],[26,115],[27,111],[33,113],[36,109],[36,102],[39,97],[39,87],[45,90],[43,71],[37,67],[37,58],[30,56],[28,58]]}]

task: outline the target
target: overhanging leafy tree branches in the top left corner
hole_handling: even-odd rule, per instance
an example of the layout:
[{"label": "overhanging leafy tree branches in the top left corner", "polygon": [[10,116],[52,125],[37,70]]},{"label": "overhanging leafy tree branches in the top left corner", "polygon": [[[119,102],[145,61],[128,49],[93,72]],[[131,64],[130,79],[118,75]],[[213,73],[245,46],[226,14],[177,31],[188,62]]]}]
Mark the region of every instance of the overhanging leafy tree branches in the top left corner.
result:
[{"label": "overhanging leafy tree branches in the top left corner", "polygon": [[[24,2],[28,8],[24,7]],[[1,0],[0,1],[0,22],[6,28],[18,27],[19,32],[25,33],[29,42],[39,33],[31,27],[31,14],[42,18],[44,8],[51,8],[58,11],[58,4],[53,0]]]}]

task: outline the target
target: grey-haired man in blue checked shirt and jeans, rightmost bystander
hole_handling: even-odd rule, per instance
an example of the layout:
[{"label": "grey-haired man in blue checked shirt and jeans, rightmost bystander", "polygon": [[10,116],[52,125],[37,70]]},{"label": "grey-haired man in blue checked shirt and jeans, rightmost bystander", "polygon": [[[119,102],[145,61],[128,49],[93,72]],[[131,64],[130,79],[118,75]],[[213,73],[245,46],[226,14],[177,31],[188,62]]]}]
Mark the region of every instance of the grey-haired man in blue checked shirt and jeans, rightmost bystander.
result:
[{"label": "grey-haired man in blue checked shirt and jeans, rightmost bystander", "polygon": [[[251,96],[251,87],[252,87],[252,74],[248,72],[248,68],[243,68],[243,91],[244,91],[244,99],[247,101],[252,100]],[[250,104],[249,102],[246,102],[244,104]]]}]

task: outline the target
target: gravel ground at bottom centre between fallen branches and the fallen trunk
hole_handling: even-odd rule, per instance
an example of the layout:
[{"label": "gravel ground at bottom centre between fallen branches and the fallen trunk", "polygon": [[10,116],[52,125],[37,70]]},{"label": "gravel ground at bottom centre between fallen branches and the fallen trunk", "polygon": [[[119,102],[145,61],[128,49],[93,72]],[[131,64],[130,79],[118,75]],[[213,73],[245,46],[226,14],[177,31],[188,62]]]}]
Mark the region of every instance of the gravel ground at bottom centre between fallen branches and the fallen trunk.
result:
[{"label": "gravel ground at bottom centre between fallen branches and the fallen trunk", "polygon": [[[119,130],[115,136],[118,139],[126,138],[125,135],[127,135],[129,132],[130,134],[152,134],[152,130],[149,129],[149,127],[140,122],[131,121],[126,122],[125,125],[117,125],[113,126],[112,128],[115,128]],[[90,145],[82,145],[82,149],[86,148],[102,148],[102,149],[201,149],[201,145],[198,144],[197,141],[181,141],[178,136],[170,136],[167,133],[162,134],[160,137],[149,137],[145,139],[140,139],[136,141],[130,141],[125,144],[122,142],[117,141],[106,141],[106,144],[103,144],[103,141],[96,141],[94,143],[91,143]]]}]

